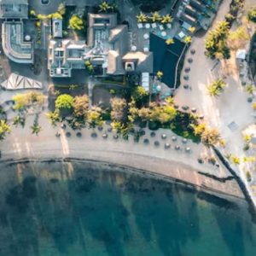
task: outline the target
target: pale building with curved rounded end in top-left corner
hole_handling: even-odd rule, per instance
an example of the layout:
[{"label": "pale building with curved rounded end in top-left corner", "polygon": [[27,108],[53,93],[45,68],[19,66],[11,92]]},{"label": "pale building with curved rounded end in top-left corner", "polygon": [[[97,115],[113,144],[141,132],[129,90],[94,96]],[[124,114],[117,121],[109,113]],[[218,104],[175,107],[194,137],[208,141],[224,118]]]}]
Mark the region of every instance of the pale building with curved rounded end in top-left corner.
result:
[{"label": "pale building with curved rounded end in top-left corner", "polygon": [[2,23],[3,52],[11,61],[25,64],[33,62],[31,37],[23,32],[22,19],[27,19],[27,9],[27,0],[0,0],[0,18],[5,20]]}]

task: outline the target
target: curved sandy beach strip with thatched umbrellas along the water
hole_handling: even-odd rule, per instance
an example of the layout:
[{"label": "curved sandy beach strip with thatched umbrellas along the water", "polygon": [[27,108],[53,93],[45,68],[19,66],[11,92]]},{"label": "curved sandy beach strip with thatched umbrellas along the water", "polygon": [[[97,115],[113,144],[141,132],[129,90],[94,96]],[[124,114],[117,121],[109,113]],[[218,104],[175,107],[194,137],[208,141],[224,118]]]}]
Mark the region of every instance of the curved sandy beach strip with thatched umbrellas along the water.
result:
[{"label": "curved sandy beach strip with thatched umbrellas along the water", "polygon": [[[140,172],[145,170],[149,175],[188,183],[199,189],[244,198],[238,184],[234,179],[230,179],[230,172],[221,163],[218,162],[219,166],[213,166],[207,161],[204,164],[198,163],[199,157],[209,157],[213,154],[209,148],[201,143],[183,143],[181,137],[177,137],[177,141],[173,142],[172,131],[159,130],[155,132],[155,137],[150,137],[151,131],[145,130],[146,134],[140,142],[135,143],[133,137],[128,141],[113,139],[113,132],[107,131],[109,126],[105,126],[102,131],[96,129],[97,137],[93,138],[91,133],[94,131],[91,129],[83,129],[82,136],[77,137],[76,131],[68,127],[65,130],[61,127],[52,128],[44,115],[40,117],[40,123],[42,122],[44,130],[38,137],[32,135],[27,128],[32,124],[32,118],[27,119],[25,129],[16,128],[12,131],[0,146],[2,164],[22,160],[101,161],[128,166]],[[57,131],[61,133],[61,137],[55,137]],[[67,137],[67,131],[71,133],[71,137]],[[103,138],[103,133],[108,134],[108,138]],[[163,133],[166,134],[166,139],[161,138]],[[149,139],[149,144],[143,143],[144,138]],[[158,147],[154,145],[155,141],[160,143]],[[165,143],[170,143],[171,148],[165,148]],[[176,145],[180,146],[180,150],[175,149]],[[185,152],[187,147],[191,149],[190,153]],[[219,182],[219,178],[228,180]]]}]

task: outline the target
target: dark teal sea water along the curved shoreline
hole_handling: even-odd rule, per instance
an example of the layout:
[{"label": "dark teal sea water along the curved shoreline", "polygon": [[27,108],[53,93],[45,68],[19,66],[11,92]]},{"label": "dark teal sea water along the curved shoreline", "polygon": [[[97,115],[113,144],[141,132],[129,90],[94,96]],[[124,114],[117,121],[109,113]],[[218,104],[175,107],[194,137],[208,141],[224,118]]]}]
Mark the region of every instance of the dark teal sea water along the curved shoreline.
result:
[{"label": "dark teal sea water along the curved shoreline", "polygon": [[0,170],[1,256],[256,255],[245,204],[98,163]]}]

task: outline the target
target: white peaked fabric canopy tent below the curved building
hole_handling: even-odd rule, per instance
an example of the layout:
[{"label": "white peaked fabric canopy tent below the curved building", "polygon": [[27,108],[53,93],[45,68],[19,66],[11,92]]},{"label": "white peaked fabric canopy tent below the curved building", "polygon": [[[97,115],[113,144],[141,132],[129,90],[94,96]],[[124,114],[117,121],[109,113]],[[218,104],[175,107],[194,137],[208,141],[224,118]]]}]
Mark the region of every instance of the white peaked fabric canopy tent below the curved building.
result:
[{"label": "white peaked fabric canopy tent below the curved building", "polygon": [[21,89],[42,89],[42,83],[34,79],[29,79],[20,76],[16,73],[11,73],[9,79],[1,84],[6,90],[21,90]]}]

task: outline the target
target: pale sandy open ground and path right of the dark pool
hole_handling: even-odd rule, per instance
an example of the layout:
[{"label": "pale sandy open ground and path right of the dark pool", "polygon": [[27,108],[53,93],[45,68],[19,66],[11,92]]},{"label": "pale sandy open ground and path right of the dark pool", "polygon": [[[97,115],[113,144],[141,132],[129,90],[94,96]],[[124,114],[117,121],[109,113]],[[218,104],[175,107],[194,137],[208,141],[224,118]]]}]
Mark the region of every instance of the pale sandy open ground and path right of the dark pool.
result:
[{"label": "pale sandy open ground and path right of the dark pool", "polygon": [[[230,9],[231,1],[224,1],[220,6],[218,15],[212,24],[216,26],[219,20],[224,20]],[[247,1],[246,7],[255,4],[254,1]],[[212,28],[211,28],[212,29]],[[211,30],[210,29],[210,30]],[[190,108],[196,108],[198,113],[205,116],[206,122],[212,127],[217,127],[222,137],[227,142],[223,154],[235,154],[242,157],[244,153],[244,140],[241,134],[248,125],[255,122],[253,118],[253,108],[251,103],[247,102],[248,94],[241,85],[239,73],[236,70],[236,59],[233,53],[229,61],[212,61],[204,55],[205,39],[207,35],[201,38],[194,38],[190,49],[195,49],[195,55],[190,53],[186,56],[182,72],[181,87],[177,90],[175,100],[179,106],[188,105]],[[189,64],[188,59],[194,61]],[[185,81],[183,76],[186,67],[190,67],[189,80]],[[227,73],[229,71],[229,73]],[[207,85],[215,79],[222,78],[228,84],[224,93],[219,97],[208,95]],[[183,84],[189,84],[191,90],[183,89]],[[233,166],[241,178],[245,181],[244,171]],[[255,177],[256,178],[256,177]],[[245,183],[247,183],[245,181]],[[256,205],[256,196],[253,195]]]}]

